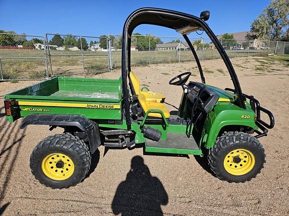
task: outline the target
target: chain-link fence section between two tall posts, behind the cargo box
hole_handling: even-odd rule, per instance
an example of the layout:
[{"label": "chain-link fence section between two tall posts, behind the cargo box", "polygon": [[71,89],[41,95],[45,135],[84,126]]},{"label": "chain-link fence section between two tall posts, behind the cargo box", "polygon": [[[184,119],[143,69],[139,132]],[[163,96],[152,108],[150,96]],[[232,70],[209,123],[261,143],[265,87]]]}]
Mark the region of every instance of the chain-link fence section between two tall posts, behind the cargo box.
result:
[{"label": "chain-link fence section between two tall posts, behind the cargo box", "polygon": [[100,73],[112,69],[106,37],[47,33],[45,40],[51,75]]}]

